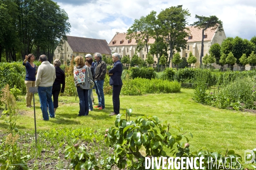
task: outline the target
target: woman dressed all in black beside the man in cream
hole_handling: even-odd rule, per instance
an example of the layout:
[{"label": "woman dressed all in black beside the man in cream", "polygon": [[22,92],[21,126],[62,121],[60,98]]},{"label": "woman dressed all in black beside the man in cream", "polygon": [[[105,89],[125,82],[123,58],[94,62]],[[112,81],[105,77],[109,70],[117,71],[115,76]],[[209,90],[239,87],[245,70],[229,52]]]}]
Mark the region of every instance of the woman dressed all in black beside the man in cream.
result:
[{"label": "woman dressed all in black beside the man in cream", "polygon": [[[61,61],[59,59],[55,59],[53,61],[53,65],[55,67],[56,79],[52,85],[52,96],[53,96],[53,106],[54,106],[54,114],[56,109],[58,108],[58,96],[61,93],[64,93],[65,90],[65,73],[61,70]],[[61,87],[62,84],[62,87]]]}]

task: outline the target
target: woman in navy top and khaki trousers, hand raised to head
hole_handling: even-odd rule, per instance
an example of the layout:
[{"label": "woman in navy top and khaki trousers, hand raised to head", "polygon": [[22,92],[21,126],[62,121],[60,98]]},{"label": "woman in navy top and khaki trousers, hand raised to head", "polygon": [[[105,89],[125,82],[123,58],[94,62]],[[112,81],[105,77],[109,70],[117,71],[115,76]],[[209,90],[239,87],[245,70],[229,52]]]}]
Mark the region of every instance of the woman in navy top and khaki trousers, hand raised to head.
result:
[{"label": "woman in navy top and khaki trousers, hand raised to head", "polygon": [[33,63],[35,61],[34,54],[29,54],[25,56],[25,59],[23,61],[23,65],[26,67],[26,78],[25,78],[25,84],[26,84],[26,107],[31,108],[31,102],[33,99],[33,94],[29,93],[30,87],[35,87],[35,71],[36,71],[36,65]]}]

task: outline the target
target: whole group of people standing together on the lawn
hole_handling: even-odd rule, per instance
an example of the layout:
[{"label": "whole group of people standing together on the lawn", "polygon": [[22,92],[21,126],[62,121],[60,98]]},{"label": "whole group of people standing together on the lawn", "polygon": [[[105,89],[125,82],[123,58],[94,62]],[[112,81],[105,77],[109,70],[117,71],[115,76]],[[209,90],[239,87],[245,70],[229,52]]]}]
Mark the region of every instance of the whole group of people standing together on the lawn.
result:
[{"label": "whole group of people standing together on the lawn", "polygon": [[[105,74],[107,73],[107,65],[102,61],[102,55],[100,53],[95,53],[94,59],[96,61],[95,63],[90,54],[85,56],[85,62],[82,56],[75,58],[74,82],[79,96],[80,107],[78,116],[88,116],[89,111],[93,111],[93,88],[95,88],[98,96],[98,105],[94,108],[105,109],[103,85]],[[119,95],[122,88],[122,64],[120,62],[120,55],[114,53],[112,60],[114,66],[108,71],[108,74],[110,76],[109,84],[113,86],[113,112],[109,116],[119,114]],[[43,120],[49,120],[49,116],[50,118],[55,118],[55,112],[58,108],[58,96],[60,93],[64,93],[65,74],[60,68],[61,61],[59,59],[55,59],[52,65],[47,61],[46,55],[41,55],[39,57],[41,65],[39,65],[38,69],[33,63],[34,61],[35,56],[33,54],[27,55],[23,61],[23,65],[26,67],[26,107],[31,107],[33,98],[33,94],[29,92],[29,87],[38,87]],[[91,80],[93,80],[94,86],[90,85]]]}]

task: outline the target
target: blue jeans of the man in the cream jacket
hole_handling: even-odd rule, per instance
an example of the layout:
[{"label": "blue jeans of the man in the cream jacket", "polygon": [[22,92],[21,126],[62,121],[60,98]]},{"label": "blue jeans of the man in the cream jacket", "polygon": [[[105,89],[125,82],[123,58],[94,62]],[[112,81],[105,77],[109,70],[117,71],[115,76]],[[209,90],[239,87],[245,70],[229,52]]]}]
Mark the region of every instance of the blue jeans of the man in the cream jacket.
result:
[{"label": "blue jeans of the man in the cream jacket", "polygon": [[[38,96],[40,99],[40,108],[43,113],[44,120],[49,120],[49,115],[51,118],[54,118],[54,109],[52,103],[52,86],[50,87],[41,87],[38,86]],[[49,106],[49,115],[47,111],[47,103]]]}]

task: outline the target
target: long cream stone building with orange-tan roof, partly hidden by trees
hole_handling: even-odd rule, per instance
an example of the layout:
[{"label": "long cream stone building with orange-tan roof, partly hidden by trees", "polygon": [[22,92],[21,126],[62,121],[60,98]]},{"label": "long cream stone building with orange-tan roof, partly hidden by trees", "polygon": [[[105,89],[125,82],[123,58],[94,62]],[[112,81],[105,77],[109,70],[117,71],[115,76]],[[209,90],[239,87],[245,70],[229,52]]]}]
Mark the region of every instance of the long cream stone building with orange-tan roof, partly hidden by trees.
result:
[{"label": "long cream stone building with orange-tan roof, partly hidden by trees", "polygon": [[[192,54],[197,57],[197,62],[195,63],[196,67],[199,67],[199,58],[201,53],[201,40],[202,40],[202,29],[195,28],[194,26],[189,26],[189,37],[186,37],[187,44],[186,49],[181,49],[180,56],[181,57],[188,57],[189,53],[192,52]],[[209,48],[212,44],[218,43],[221,45],[221,42],[226,39],[226,35],[224,31],[221,32],[215,32],[216,30],[211,30],[208,28],[206,31],[204,31],[204,55],[209,54]],[[132,40],[126,40],[127,33],[119,33],[116,32],[114,37],[112,38],[111,42],[108,44],[109,48],[112,52],[117,52],[122,56],[130,56],[130,58],[134,55],[135,49],[137,47],[137,42],[135,39]],[[149,39],[149,49],[150,44],[154,42],[154,39]],[[169,54],[169,51],[168,51]],[[147,51],[144,47],[143,50],[141,50],[139,53],[137,53],[139,57],[142,59],[146,59],[147,57]],[[153,67],[156,66],[157,63],[157,57],[154,57],[154,64]],[[215,68],[220,68],[219,65],[213,64]]]}]

